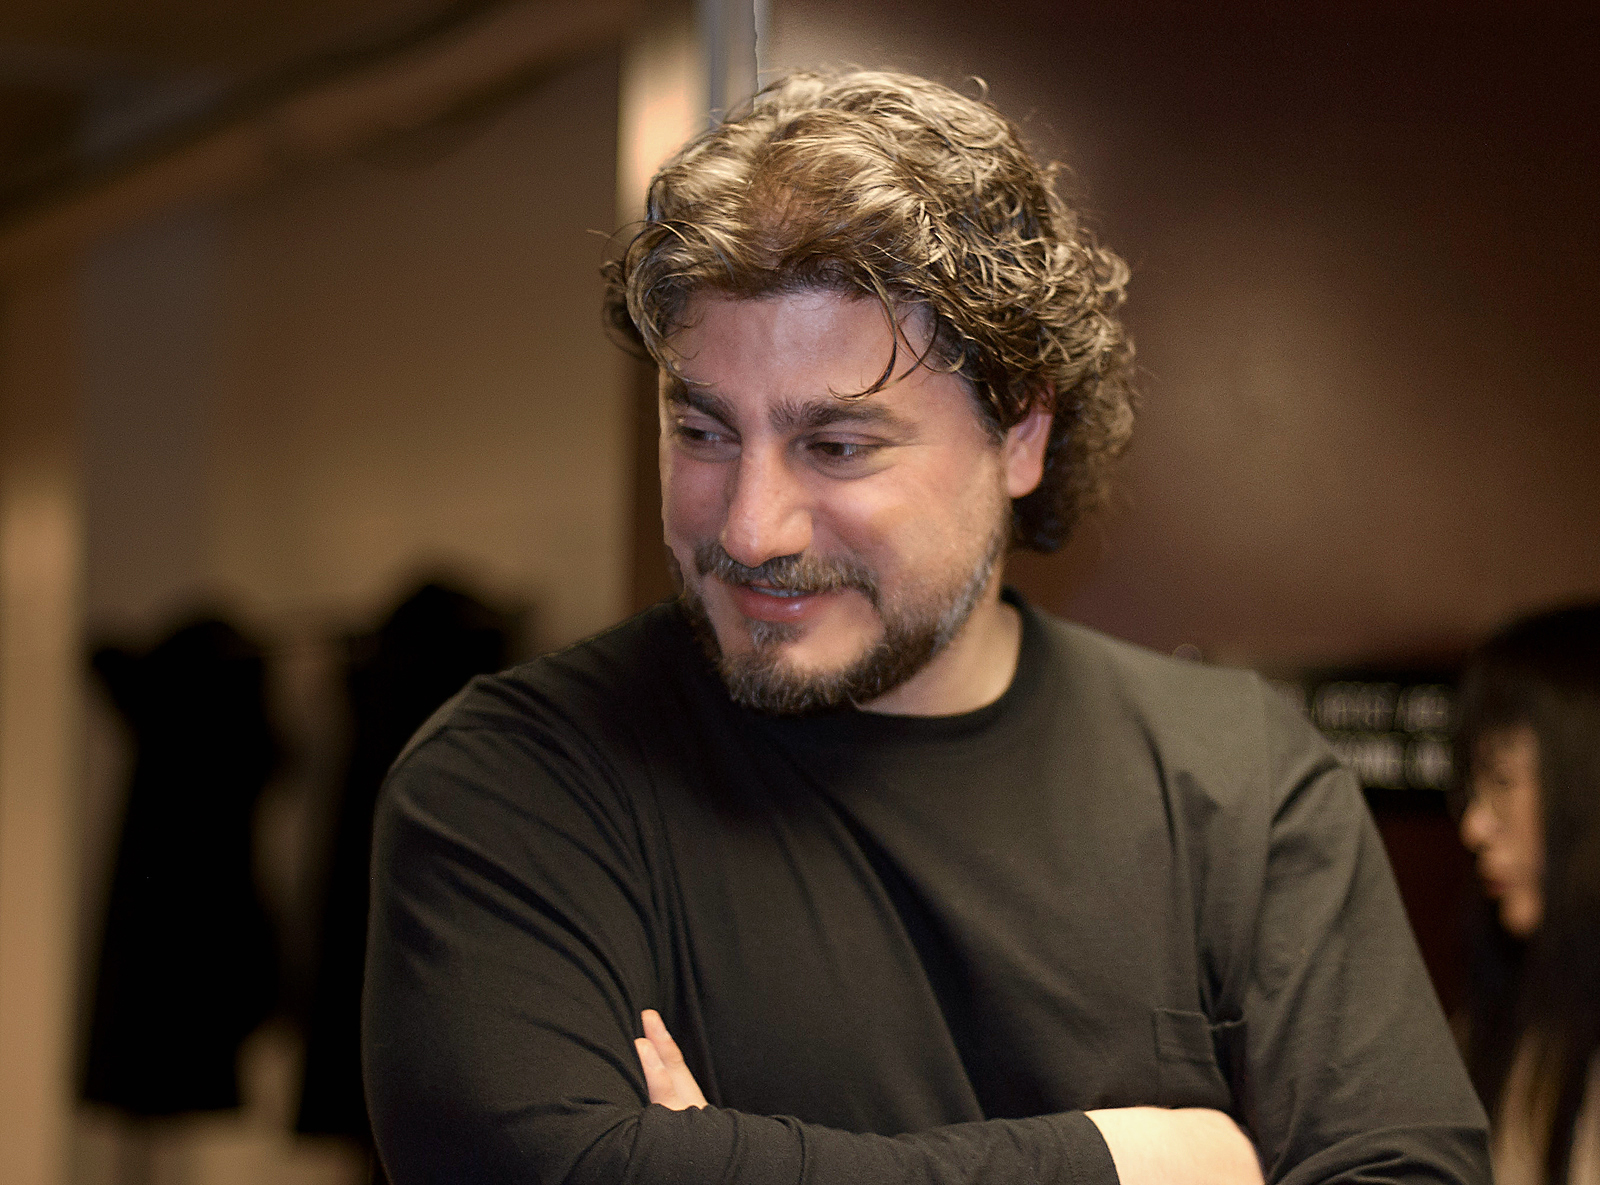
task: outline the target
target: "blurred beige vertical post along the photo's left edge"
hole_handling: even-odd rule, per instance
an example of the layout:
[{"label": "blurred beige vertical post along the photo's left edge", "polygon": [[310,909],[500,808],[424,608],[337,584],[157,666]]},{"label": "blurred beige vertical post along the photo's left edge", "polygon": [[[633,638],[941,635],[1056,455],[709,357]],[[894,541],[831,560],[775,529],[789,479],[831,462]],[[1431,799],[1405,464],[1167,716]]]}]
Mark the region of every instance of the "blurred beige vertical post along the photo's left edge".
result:
[{"label": "blurred beige vertical post along the photo's left edge", "polygon": [[74,1078],[74,836],[83,521],[66,261],[0,304],[0,1161],[64,1185]]}]

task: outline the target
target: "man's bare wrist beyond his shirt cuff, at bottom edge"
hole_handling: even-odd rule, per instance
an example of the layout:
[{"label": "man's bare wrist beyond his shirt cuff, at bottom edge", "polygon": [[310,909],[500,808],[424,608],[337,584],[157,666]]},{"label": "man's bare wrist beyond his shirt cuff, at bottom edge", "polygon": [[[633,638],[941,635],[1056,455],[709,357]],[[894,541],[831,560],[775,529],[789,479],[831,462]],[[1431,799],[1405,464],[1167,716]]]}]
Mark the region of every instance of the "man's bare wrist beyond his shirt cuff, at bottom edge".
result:
[{"label": "man's bare wrist beyond his shirt cuff, at bottom edge", "polygon": [[1122,1185],[1262,1185],[1254,1145],[1221,1111],[1117,1107],[1086,1115]]}]

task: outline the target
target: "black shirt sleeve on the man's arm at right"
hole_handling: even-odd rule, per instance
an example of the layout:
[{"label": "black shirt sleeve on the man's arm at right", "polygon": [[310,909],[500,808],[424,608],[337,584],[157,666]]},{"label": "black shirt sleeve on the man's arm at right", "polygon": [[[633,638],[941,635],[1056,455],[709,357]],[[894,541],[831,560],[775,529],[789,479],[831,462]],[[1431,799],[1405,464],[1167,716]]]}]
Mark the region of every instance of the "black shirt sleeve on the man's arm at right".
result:
[{"label": "black shirt sleeve on the man's arm at right", "polygon": [[1360,788],[1298,713],[1261,696],[1269,787],[1211,844],[1234,859],[1218,862],[1208,937],[1235,931],[1227,945],[1243,952],[1222,971],[1237,979],[1222,1028],[1266,1179],[1486,1185],[1483,1110]]}]

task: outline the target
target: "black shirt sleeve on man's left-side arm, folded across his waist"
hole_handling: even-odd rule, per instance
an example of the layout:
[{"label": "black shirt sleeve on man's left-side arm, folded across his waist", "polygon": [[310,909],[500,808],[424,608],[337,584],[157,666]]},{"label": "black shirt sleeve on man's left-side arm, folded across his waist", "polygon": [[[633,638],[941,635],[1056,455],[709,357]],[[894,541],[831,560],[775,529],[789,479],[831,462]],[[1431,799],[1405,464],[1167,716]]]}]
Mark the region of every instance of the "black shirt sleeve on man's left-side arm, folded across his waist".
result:
[{"label": "black shirt sleeve on man's left-side arm, folded across his waist", "polygon": [[854,1134],[646,1105],[638,1014],[669,1025],[640,820],[581,744],[445,728],[379,801],[363,999],[395,1185],[1115,1185],[1082,1113]]}]

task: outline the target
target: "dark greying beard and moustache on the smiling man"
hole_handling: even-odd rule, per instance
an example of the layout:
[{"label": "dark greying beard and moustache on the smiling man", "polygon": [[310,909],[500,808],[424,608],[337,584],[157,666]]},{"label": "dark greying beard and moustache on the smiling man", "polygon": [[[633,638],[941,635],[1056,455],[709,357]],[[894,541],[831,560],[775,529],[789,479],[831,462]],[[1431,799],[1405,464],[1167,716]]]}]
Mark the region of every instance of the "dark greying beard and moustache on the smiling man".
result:
[{"label": "dark greying beard and moustache on the smiling man", "polygon": [[758,568],[746,568],[715,542],[701,544],[694,550],[694,566],[699,574],[726,584],[763,582],[798,592],[854,589],[862,593],[883,622],[883,636],[856,662],[835,672],[784,668],[779,664],[778,646],[797,638],[800,628],[781,622],[747,622],[754,651],[731,657],[723,654],[704,601],[682,581],[682,573],[675,576],[680,577],[678,598],[694,636],[717,667],[733,700],[758,712],[798,715],[870,702],[928,665],[966,624],[994,577],[1003,547],[1005,534],[997,533],[966,584],[941,596],[934,604],[891,604],[888,611],[872,573],[851,561],[784,555]]}]

